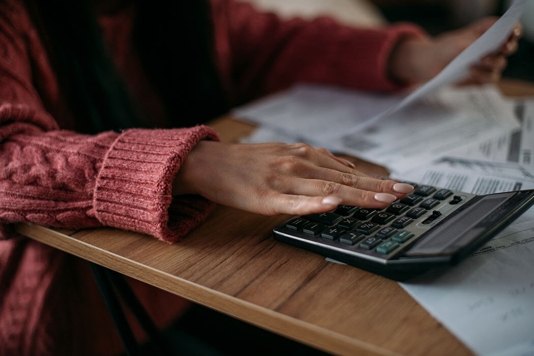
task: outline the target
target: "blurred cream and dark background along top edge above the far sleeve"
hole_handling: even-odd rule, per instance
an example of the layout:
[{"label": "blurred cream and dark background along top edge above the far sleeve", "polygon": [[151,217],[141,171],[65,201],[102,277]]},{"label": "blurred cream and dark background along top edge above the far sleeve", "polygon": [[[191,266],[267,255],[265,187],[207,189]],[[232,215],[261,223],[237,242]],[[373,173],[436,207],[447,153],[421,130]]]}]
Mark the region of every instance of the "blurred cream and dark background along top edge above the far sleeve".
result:
[{"label": "blurred cream and dark background along top edge above the far sleeve", "polygon": [[[328,15],[353,26],[410,21],[438,34],[488,15],[500,15],[511,0],[240,0],[282,18]],[[534,1],[521,19],[525,30],[519,50],[509,58],[505,77],[534,82]]]}]

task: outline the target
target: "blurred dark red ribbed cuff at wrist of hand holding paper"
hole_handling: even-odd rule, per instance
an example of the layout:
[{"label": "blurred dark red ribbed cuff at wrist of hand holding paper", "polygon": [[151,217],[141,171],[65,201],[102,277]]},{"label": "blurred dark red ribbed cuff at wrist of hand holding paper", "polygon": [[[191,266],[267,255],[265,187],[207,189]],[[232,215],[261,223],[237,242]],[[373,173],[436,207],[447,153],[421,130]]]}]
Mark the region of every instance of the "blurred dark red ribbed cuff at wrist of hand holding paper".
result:
[{"label": "blurred dark red ribbed cuff at wrist of hand holding paper", "polygon": [[419,26],[404,22],[381,30],[359,30],[343,43],[344,55],[337,60],[338,68],[344,70],[340,75],[349,81],[349,86],[356,83],[356,86],[379,91],[404,88],[405,84],[393,81],[388,74],[391,52],[404,37],[427,38],[428,35]]}]

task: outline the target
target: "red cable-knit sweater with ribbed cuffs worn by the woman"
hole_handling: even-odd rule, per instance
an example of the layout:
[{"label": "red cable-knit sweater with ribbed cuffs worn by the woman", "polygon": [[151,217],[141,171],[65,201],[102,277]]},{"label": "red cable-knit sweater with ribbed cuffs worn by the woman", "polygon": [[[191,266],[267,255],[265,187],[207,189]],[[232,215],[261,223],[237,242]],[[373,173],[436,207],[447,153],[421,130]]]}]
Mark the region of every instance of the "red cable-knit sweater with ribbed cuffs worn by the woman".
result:
[{"label": "red cable-knit sweater with ribbed cuffs worn by the woman", "polygon": [[[394,90],[388,56],[397,25],[354,29],[328,18],[280,21],[231,0],[213,0],[217,64],[234,102],[296,81]],[[117,67],[133,96],[165,116],[133,50],[133,8],[101,16]],[[129,129],[80,135],[64,105],[43,42],[22,0],[0,3],[0,354],[116,354],[120,343],[85,264],[11,233],[13,223],[83,228],[113,226],[173,242],[212,207],[200,196],[171,196],[190,149],[217,139],[206,126]],[[162,116],[165,116],[162,118]],[[170,121],[172,117],[172,121]],[[183,310],[178,297],[132,282],[159,326]]]}]

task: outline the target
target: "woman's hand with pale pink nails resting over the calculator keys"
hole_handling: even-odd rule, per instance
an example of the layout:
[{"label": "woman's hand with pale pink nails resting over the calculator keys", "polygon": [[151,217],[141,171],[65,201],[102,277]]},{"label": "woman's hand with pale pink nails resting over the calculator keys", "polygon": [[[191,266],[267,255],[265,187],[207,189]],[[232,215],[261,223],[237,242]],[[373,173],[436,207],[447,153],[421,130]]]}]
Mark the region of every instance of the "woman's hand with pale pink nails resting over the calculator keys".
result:
[{"label": "woman's hand with pale pink nails resting over the calculator keys", "polygon": [[341,203],[384,208],[412,190],[368,177],[324,148],[201,141],[180,167],[172,193],[200,194],[264,215],[303,215]]}]

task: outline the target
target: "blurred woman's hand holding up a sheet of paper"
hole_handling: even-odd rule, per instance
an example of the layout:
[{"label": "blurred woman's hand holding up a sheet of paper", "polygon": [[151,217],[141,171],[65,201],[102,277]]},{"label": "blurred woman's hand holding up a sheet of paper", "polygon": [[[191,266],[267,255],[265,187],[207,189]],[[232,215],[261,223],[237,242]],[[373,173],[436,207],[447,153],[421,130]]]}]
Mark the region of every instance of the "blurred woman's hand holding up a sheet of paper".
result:
[{"label": "blurred woman's hand holding up a sheet of paper", "polygon": [[[389,73],[392,78],[407,84],[423,83],[438,74],[449,62],[465,50],[497,21],[484,18],[456,31],[446,32],[434,38],[407,38],[391,53]],[[499,51],[488,54],[473,65],[469,76],[459,84],[484,84],[498,82],[505,69],[506,57],[517,51],[517,41],[522,35],[520,23],[512,30],[508,41]]]}]

